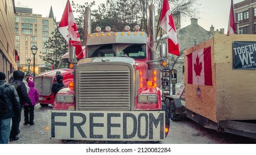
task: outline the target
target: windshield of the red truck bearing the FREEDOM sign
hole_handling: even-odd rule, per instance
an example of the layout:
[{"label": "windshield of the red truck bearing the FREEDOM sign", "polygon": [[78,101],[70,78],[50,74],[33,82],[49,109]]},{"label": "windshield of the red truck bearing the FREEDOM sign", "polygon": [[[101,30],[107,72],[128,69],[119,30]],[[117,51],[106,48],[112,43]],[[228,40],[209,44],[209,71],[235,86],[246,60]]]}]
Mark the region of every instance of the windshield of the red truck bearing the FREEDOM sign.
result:
[{"label": "windshield of the red truck bearing the FREEDOM sign", "polygon": [[104,44],[88,46],[89,58],[127,56],[134,59],[146,58],[146,44]]}]

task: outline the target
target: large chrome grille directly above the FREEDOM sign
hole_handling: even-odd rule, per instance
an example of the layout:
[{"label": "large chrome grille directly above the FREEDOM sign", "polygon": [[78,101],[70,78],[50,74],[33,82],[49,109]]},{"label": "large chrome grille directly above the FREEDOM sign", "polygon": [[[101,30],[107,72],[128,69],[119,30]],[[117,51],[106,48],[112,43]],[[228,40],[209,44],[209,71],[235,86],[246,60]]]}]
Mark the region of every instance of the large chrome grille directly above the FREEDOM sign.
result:
[{"label": "large chrome grille directly above the FREEDOM sign", "polygon": [[80,70],[78,76],[79,110],[130,110],[130,68]]}]

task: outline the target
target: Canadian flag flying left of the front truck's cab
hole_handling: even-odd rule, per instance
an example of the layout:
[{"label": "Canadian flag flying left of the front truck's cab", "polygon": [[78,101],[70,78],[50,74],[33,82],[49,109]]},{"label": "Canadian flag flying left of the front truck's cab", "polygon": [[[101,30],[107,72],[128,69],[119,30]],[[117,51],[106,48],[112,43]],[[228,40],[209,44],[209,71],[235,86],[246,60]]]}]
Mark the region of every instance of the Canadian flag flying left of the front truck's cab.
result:
[{"label": "Canadian flag flying left of the front truck's cab", "polygon": [[75,46],[75,55],[78,59],[83,58],[83,50],[79,38],[78,28],[76,27],[75,18],[69,0],[59,23],[59,32],[69,43],[69,46]]}]

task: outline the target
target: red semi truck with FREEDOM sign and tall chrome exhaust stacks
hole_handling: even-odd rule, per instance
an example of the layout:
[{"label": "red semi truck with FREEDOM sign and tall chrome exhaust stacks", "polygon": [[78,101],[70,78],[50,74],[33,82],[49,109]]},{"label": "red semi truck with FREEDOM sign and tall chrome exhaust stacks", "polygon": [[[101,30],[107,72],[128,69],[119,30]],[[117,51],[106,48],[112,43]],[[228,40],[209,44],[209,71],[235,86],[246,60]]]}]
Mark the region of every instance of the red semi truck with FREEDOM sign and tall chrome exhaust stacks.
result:
[{"label": "red semi truck with FREEDOM sign and tall chrome exhaust stacks", "polygon": [[[91,33],[90,22],[90,8],[86,7],[85,58],[76,59],[71,46],[68,60],[74,65],[72,72],[59,70],[73,80],[56,94],[48,112],[49,138],[163,141],[170,119],[161,101],[162,59],[155,51],[154,6],[150,6],[149,37],[139,25],[133,31],[126,26],[122,32],[96,27],[96,33]],[[166,54],[165,47],[162,43],[161,53]],[[49,94],[57,71],[48,74],[48,81],[38,80],[38,88],[47,86]]]}]

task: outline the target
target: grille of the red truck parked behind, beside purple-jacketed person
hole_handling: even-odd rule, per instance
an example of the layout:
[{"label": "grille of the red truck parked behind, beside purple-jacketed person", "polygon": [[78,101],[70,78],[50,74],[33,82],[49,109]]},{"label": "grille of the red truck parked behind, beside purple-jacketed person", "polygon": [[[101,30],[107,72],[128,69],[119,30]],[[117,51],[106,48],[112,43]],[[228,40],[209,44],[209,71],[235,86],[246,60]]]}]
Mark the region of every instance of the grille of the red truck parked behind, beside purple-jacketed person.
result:
[{"label": "grille of the red truck parked behind, beside purple-jacketed person", "polygon": [[53,77],[37,76],[35,77],[35,88],[39,95],[50,95],[52,88]]}]

